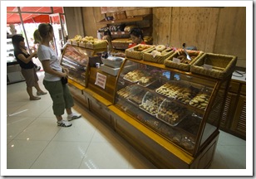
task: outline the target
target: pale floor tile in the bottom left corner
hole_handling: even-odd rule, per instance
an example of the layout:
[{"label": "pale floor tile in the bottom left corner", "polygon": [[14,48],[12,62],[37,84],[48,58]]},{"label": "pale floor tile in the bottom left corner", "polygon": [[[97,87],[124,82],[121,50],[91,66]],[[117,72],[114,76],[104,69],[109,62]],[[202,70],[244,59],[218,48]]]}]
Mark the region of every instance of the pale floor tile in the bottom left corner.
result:
[{"label": "pale floor tile in the bottom left corner", "polygon": [[47,141],[12,140],[7,144],[7,169],[29,169]]}]

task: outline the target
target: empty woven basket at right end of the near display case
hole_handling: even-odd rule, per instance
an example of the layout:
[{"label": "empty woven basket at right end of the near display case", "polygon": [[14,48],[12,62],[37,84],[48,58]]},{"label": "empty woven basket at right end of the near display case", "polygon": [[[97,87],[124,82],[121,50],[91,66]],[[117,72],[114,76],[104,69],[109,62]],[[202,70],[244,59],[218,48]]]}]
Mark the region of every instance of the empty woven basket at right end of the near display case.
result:
[{"label": "empty woven basket at right end of the near display case", "polygon": [[[236,62],[237,56],[204,53],[191,65],[190,71],[195,74],[224,79],[234,72]],[[205,65],[209,65],[208,68],[205,68]]]}]

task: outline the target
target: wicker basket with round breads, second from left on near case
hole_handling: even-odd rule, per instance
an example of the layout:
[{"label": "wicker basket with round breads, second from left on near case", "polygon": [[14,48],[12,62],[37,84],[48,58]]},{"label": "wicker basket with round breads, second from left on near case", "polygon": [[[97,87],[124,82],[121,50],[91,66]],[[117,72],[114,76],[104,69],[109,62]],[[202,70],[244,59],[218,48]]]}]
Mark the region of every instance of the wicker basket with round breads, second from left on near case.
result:
[{"label": "wicker basket with round breads, second from left on near case", "polygon": [[158,64],[164,64],[164,60],[172,55],[175,51],[171,48],[166,48],[164,45],[155,46],[154,49],[146,51],[143,55],[143,60],[151,61]]}]

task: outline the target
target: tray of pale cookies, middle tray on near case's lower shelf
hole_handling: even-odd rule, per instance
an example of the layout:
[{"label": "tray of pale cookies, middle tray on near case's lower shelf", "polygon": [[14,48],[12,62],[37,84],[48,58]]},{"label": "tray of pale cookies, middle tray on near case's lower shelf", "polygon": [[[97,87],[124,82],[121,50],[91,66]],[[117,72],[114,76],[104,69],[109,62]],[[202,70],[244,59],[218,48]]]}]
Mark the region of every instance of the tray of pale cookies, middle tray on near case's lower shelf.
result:
[{"label": "tray of pale cookies, middle tray on near case's lower shelf", "polygon": [[164,98],[161,98],[158,95],[151,93],[150,91],[146,92],[142,99],[142,103],[139,105],[140,109],[144,110],[146,113],[151,115],[156,115],[160,104],[164,101]]}]

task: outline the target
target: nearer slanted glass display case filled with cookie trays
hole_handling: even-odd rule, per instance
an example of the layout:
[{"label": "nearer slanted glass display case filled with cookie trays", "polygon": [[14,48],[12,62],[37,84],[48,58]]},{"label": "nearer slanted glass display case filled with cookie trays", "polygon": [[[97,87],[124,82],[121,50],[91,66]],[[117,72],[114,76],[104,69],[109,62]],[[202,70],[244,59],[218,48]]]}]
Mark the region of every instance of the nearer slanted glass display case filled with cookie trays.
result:
[{"label": "nearer slanted glass display case filled with cookie trays", "polygon": [[126,59],[115,106],[194,157],[219,134],[230,77],[218,80]]}]

